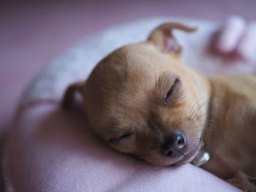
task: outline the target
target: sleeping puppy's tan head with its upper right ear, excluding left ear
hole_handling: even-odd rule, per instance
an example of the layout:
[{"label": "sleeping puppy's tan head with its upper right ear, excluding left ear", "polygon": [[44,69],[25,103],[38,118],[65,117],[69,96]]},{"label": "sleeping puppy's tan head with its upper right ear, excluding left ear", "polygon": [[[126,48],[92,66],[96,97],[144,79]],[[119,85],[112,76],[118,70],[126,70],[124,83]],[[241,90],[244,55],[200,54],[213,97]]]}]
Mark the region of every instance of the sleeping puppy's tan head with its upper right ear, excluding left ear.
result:
[{"label": "sleeping puppy's tan head with its upper right ear, excluding left ear", "polygon": [[83,88],[94,130],[116,150],[151,164],[192,161],[200,150],[208,84],[181,65],[173,28],[156,28],[146,42],[127,45],[99,62]]}]

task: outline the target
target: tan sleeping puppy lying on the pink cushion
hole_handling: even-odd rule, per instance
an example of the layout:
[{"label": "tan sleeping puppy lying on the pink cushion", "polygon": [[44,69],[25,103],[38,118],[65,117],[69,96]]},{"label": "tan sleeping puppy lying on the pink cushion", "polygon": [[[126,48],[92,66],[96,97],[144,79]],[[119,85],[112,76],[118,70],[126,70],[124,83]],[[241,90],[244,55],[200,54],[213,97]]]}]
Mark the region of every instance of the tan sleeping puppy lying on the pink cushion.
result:
[{"label": "tan sleeping puppy lying on the pink cushion", "polygon": [[69,86],[63,107],[79,91],[94,131],[148,163],[200,165],[210,153],[203,169],[225,179],[238,171],[256,177],[256,75],[208,79],[182,65],[173,29],[195,31],[164,23],[146,42],[115,50],[86,82]]}]

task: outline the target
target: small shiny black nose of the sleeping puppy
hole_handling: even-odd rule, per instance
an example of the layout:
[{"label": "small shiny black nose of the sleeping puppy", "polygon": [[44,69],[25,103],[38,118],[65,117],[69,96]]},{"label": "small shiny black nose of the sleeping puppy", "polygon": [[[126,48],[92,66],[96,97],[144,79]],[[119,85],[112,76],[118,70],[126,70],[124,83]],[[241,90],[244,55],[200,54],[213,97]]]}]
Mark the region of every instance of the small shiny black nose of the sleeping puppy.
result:
[{"label": "small shiny black nose of the sleeping puppy", "polygon": [[172,156],[178,150],[181,150],[187,145],[187,138],[186,136],[176,131],[170,135],[162,145],[162,153],[167,156]]}]

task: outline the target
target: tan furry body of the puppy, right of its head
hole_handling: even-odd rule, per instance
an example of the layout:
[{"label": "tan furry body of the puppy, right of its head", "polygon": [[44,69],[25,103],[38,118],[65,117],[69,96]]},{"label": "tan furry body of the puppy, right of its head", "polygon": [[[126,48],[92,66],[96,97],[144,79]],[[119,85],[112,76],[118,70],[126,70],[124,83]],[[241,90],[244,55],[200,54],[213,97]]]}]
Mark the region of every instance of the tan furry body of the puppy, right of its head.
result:
[{"label": "tan furry body of the puppy, right of its head", "polygon": [[219,177],[238,170],[256,177],[256,75],[211,80],[211,127],[204,142],[211,160],[204,169]]}]

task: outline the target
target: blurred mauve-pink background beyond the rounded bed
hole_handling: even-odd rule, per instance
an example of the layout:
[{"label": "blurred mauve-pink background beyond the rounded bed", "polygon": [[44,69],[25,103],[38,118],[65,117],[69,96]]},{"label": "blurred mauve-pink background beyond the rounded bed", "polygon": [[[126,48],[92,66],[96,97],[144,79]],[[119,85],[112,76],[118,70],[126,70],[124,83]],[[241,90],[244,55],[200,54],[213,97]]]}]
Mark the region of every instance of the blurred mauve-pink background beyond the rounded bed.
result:
[{"label": "blurred mauve-pink background beyond the rounded bed", "polygon": [[[80,39],[138,18],[256,18],[255,0],[7,1],[0,7],[0,131],[10,126],[27,82]],[[0,132],[0,135],[1,135]]]}]

